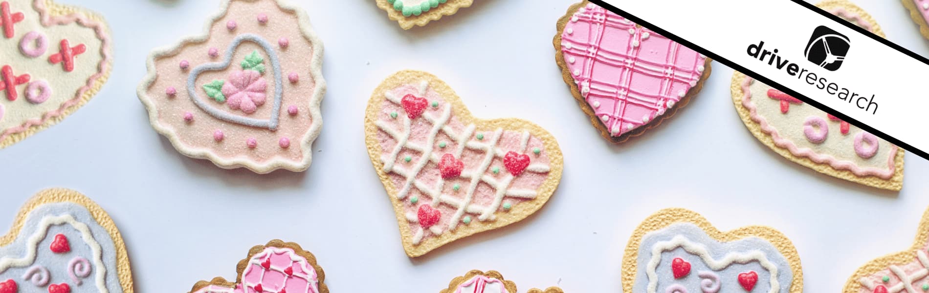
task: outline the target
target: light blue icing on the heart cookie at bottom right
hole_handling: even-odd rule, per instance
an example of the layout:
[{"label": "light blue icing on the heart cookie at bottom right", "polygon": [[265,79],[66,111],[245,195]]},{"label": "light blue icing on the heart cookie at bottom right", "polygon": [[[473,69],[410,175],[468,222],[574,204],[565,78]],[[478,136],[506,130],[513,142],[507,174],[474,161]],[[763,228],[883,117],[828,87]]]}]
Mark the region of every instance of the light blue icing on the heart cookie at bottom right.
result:
[{"label": "light blue icing on the heart cookie at bottom right", "polygon": [[[693,243],[699,243],[708,248],[713,260],[722,260],[730,252],[750,252],[761,251],[765,254],[768,261],[771,261],[778,267],[777,280],[780,285],[778,293],[788,293],[791,290],[793,271],[790,262],[784,258],[775,248],[765,239],[759,237],[748,237],[738,241],[720,243],[708,236],[703,229],[692,223],[674,223],[659,231],[654,231],[642,237],[642,243],[638,249],[637,272],[635,273],[635,293],[648,292],[648,261],[652,258],[652,247],[659,242],[670,241],[674,236],[685,236],[687,240]],[[681,258],[690,263],[690,274],[674,279],[671,262],[674,258]],[[766,293],[771,289],[771,274],[763,268],[758,261],[750,261],[745,264],[732,263],[721,271],[713,271],[706,263],[700,260],[700,257],[691,254],[684,248],[674,248],[661,253],[661,261],[656,268],[658,274],[658,289],[656,293],[666,293],[668,287],[680,285],[687,288],[688,293],[703,292],[700,289],[700,282],[704,279],[698,275],[700,272],[713,272],[719,275],[720,289],[719,293],[745,293],[745,289],[739,285],[739,274],[753,271],[758,274],[758,282],[755,284],[753,293]]]}]

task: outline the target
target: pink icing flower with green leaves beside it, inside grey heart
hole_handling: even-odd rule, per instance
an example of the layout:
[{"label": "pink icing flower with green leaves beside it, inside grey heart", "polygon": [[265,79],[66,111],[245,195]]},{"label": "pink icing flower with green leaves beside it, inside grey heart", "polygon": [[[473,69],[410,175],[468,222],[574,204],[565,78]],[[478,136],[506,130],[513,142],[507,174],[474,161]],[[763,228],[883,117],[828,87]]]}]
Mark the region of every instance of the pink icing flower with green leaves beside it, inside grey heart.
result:
[{"label": "pink icing flower with green leaves beside it, inside grey heart", "polygon": [[267,90],[268,83],[255,70],[232,71],[223,83],[223,95],[228,99],[229,108],[241,108],[248,114],[265,104]]}]

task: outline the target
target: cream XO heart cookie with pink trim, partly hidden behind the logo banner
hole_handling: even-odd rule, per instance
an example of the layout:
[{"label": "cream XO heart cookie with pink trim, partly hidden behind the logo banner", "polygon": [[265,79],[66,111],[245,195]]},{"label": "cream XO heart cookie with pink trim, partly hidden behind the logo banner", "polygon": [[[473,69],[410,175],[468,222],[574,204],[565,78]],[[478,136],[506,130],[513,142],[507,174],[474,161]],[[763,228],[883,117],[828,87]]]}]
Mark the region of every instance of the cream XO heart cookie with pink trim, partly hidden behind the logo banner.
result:
[{"label": "cream XO heart cookie with pink trim, partly hidden behind the logo banner", "polygon": [[[857,6],[844,1],[818,6],[883,36]],[[731,90],[732,102],[749,131],[784,158],[862,185],[903,187],[902,149],[740,72],[733,74]],[[838,93],[843,95],[848,96],[848,91]]]}]

